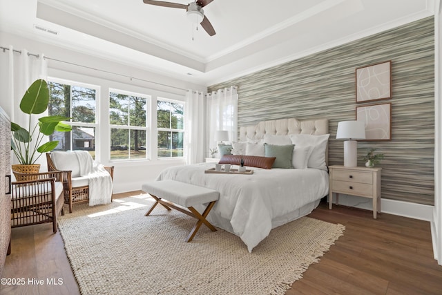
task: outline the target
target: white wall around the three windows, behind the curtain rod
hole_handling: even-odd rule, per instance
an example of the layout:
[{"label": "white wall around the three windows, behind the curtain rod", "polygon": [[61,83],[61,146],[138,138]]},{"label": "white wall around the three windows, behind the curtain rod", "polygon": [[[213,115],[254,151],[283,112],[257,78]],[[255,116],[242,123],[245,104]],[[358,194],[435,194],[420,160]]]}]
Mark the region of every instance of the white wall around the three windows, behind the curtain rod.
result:
[{"label": "white wall around the three windows, behind the curtain rod", "polygon": [[[101,111],[99,111],[98,117],[99,126],[97,127],[97,137],[103,139],[104,142],[97,142],[98,145],[106,144],[106,141],[108,138],[110,138],[109,130],[107,128],[101,128],[102,122],[106,122],[106,117],[108,117],[108,88],[117,88],[124,91],[133,91],[135,93],[146,93],[153,95],[154,97],[158,95],[177,100],[184,99],[184,94],[186,93],[185,89],[190,88],[193,90],[206,92],[206,87],[202,85],[193,84],[180,79],[173,79],[158,73],[151,73],[148,70],[133,68],[114,61],[109,61],[105,58],[76,53],[72,50],[66,50],[57,46],[51,46],[41,42],[0,32],[0,46],[7,48],[9,45],[14,46],[14,48],[17,48],[18,50],[27,49],[30,53],[44,53],[46,57],[50,57],[50,59],[48,59],[48,77],[68,79],[75,82],[94,84],[100,87],[97,111],[99,111],[100,108]],[[8,77],[7,53],[8,51],[6,53],[0,52],[1,101],[3,101],[3,99],[10,99],[9,97],[6,97],[6,78]],[[80,64],[88,66],[89,68],[66,64],[59,61],[54,61],[52,59],[68,61],[69,63]],[[128,75],[138,79],[129,79],[127,77],[113,75],[111,73],[104,73],[99,70],[94,70],[93,68],[112,73],[120,73],[121,75]],[[177,88],[182,88],[182,90]],[[115,193],[141,189],[143,182],[155,180],[160,171],[166,167],[184,164],[184,160],[170,159],[153,159],[147,162],[111,161],[109,152],[106,149],[99,149],[97,151],[96,158],[103,164],[115,166]]]}]

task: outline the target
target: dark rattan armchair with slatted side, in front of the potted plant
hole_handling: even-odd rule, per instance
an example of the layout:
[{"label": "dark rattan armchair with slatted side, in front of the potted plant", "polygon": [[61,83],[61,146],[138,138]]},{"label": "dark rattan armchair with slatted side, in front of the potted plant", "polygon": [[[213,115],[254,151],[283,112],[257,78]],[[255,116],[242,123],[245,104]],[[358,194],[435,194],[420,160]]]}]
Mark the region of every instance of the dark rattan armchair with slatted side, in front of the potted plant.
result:
[{"label": "dark rattan armchair with slatted side, in front of the potted plant", "polygon": [[52,222],[57,232],[57,216],[64,215],[63,173],[14,173],[21,181],[12,182],[11,227]]}]

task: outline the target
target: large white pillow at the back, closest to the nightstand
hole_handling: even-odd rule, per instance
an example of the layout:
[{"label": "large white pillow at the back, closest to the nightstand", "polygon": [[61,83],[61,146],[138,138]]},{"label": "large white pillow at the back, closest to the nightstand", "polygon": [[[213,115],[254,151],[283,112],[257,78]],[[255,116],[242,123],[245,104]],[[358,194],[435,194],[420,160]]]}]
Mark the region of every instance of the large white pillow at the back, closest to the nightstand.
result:
[{"label": "large white pillow at the back, closest to the nightstand", "polygon": [[325,163],[325,150],[327,149],[329,136],[329,134],[292,134],[290,135],[290,138],[291,142],[295,144],[295,146],[313,146],[313,151],[311,151],[311,155],[307,161],[308,168],[316,168],[327,171],[327,164]]}]

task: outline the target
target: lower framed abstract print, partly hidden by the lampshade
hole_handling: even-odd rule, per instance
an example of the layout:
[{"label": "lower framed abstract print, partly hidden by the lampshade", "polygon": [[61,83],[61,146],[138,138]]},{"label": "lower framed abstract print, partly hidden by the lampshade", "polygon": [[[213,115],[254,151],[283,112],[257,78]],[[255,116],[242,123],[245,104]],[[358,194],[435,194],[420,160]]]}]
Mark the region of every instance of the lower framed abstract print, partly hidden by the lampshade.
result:
[{"label": "lower framed abstract print, partly hidden by the lampshade", "polygon": [[365,122],[365,140],[392,140],[392,103],[356,106],[356,120]]}]

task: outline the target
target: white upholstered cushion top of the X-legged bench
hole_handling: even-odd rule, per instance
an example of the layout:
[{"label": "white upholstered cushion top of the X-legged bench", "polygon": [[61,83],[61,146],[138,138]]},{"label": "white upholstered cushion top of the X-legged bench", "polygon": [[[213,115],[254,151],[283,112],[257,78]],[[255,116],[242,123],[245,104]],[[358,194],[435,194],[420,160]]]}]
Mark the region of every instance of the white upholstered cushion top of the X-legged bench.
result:
[{"label": "white upholstered cushion top of the X-legged bench", "polygon": [[175,180],[148,182],[142,185],[142,190],[187,208],[220,198],[218,191]]}]

